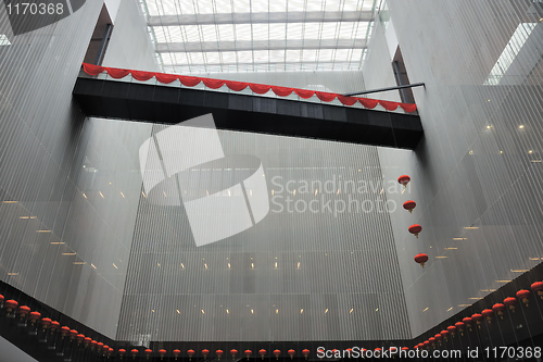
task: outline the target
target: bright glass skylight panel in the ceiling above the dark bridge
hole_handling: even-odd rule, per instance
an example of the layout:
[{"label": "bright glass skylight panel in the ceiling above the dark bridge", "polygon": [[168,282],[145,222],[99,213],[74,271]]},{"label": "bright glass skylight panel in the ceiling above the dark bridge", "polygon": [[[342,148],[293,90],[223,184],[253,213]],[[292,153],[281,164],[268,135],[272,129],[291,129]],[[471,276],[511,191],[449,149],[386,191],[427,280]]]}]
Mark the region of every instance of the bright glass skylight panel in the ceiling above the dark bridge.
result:
[{"label": "bright glass skylight panel in the ceiling above the dark bridge", "polygon": [[377,0],[139,1],[164,72],[189,74],[359,70]]}]

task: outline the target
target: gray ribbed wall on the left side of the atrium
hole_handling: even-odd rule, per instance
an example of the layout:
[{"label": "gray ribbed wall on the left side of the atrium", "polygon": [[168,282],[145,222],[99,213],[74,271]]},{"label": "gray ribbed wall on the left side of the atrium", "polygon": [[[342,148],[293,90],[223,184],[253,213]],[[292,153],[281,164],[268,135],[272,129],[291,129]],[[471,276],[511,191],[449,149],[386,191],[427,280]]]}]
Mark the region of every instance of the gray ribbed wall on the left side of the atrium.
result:
[{"label": "gray ribbed wall on the left side of the atrium", "polygon": [[[0,278],[114,337],[151,127],[85,120],[72,102],[101,7],[15,37],[0,5]],[[134,37],[124,28],[112,43]]]}]

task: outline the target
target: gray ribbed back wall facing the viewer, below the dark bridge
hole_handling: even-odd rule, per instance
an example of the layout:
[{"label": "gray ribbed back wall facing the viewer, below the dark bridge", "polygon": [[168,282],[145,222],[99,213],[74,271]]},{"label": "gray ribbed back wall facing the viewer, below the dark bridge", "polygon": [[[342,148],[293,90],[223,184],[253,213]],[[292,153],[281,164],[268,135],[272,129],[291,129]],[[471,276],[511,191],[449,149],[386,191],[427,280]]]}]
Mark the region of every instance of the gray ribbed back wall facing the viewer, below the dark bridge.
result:
[{"label": "gray ribbed back wall facing the viewer, below the dark bridge", "polygon": [[[155,126],[154,132],[162,128]],[[117,338],[406,338],[408,325],[389,215],[362,209],[356,213],[354,204],[351,213],[337,216],[326,209],[278,212],[276,205],[282,202],[278,196],[286,200],[288,195],[307,203],[324,198],[333,204],[349,197],[382,202],[377,149],[235,132],[219,132],[219,136],[225,154],[253,154],[262,160],[269,196],[276,197],[272,211],[241,234],[197,248],[182,207],[160,207],[142,196]],[[371,182],[375,187],[364,194],[346,194],[343,187],[340,194],[326,194],[319,188],[316,196],[313,189],[302,194],[299,188],[301,180],[324,185],[333,175],[338,180],[341,176]],[[282,186],[295,180],[298,194],[280,194],[273,182],[276,176],[282,178],[275,178],[275,184]],[[205,184],[207,179],[198,183]]]}]

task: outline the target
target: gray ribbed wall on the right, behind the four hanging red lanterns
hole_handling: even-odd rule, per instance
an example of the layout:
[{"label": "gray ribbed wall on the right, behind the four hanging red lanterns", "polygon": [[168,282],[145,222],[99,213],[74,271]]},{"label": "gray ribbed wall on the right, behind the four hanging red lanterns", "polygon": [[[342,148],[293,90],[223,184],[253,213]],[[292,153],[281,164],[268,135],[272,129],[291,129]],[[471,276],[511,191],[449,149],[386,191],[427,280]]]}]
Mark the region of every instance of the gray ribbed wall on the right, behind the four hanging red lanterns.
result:
[{"label": "gray ribbed wall on the right, behind the four hanging red lanterns", "polygon": [[[543,254],[543,11],[532,1],[388,3],[408,76],[426,83],[414,90],[425,141],[414,153],[379,150],[386,178],[412,176],[408,192],[390,197],[418,203],[391,216],[417,336]],[[484,85],[522,22],[538,25],[498,85]],[[416,222],[418,239],[407,233]],[[430,257],[424,270],[418,252]]]}]

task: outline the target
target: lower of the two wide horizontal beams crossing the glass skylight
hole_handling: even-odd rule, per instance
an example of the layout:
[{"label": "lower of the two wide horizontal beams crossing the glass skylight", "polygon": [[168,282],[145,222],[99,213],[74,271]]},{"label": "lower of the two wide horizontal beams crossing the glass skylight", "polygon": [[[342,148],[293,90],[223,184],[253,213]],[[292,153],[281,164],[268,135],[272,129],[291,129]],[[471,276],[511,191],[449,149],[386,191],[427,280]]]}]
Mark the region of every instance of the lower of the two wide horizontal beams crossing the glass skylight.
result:
[{"label": "lower of the two wide horizontal beams crossing the glass skylight", "polygon": [[283,49],[364,49],[366,39],[237,40],[159,42],[157,53]]}]

